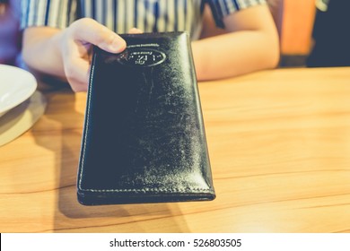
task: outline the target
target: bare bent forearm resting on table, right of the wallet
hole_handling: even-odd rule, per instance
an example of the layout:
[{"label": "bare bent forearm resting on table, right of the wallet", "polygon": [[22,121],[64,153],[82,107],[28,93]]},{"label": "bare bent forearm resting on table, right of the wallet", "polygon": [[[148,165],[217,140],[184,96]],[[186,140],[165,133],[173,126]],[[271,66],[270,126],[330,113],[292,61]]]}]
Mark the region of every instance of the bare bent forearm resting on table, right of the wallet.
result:
[{"label": "bare bent forearm resting on table, right of the wallet", "polygon": [[[225,30],[214,30],[209,35],[206,32],[206,38],[192,42],[199,81],[276,67],[279,39],[267,5],[232,13],[223,19],[223,23]],[[213,23],[209,25],[213,28]]]}]

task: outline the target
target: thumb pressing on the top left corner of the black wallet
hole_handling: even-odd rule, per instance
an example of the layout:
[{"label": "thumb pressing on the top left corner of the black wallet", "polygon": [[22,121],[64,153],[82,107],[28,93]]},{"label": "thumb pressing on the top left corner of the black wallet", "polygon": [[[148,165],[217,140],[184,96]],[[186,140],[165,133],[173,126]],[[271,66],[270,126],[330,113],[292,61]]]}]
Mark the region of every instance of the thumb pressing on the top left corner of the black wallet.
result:
[{"label": "thumb pressing on the top left corner of the black wallet", "polygon": [[74,39],[81,43],[91,43],[111,53],[119,53],[127,47],[127,43],[118,34],[101,23],[89,18],[79,19],[69,27]]}]

